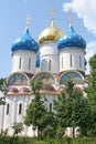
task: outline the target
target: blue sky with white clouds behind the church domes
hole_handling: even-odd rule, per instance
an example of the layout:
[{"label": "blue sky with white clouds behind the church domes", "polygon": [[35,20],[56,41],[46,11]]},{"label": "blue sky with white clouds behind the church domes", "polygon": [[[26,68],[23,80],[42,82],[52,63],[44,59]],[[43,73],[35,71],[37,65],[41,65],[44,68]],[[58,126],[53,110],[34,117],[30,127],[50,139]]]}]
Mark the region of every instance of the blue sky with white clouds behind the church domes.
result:
[{"label": "blue sky with white clouds behind the church domes", "polygon": [[[0,1],[0,78],[11,74],[11,44],[25,30],[29,14],[30,33],[35,40],[50,25],[51,9],[55,9],[55,24],[68,31],[67,11],[72,11],[73,27],[86,43],[86,60],[96,53],[96,0],[3,0]],[[86,73],[89,73],[87,64]]]}]

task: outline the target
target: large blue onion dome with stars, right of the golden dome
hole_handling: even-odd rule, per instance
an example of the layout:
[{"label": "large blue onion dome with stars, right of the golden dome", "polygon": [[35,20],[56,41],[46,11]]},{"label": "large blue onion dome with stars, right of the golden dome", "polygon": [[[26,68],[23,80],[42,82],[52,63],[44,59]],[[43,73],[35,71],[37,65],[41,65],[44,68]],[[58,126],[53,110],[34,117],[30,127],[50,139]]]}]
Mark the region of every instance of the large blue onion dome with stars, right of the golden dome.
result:
[{"label": "large blue onion dome with stars, right of the golden dome", "polygon": [[86,49],[86,42],[81,35],[75,33],[74,28],[71,25],[66,35],[57,41],[57,48],[60,50],[65,48]]}]

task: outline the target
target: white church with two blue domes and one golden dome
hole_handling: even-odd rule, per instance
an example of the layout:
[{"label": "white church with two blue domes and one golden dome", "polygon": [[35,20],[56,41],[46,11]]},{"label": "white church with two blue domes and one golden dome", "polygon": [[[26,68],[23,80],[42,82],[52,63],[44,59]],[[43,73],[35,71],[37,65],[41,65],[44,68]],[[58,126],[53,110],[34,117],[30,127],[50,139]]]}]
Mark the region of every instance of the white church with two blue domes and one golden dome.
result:
[{"label": "white church with two blue domes and one golden dome", "polygon": [[[34,40],[28,18],[24,32],[11,45],[12,71],[7,76],[9,90],[6,105],[0,105],[0,131],[8,130],[8,135],[13,135],[13,123],[23,122],[26,106],[34,97],[30,81],[42,81],[40,93],[47,99],[45,105],[49,111],[53,111],[53,101],[64,91],[70,78],[74,80],[75,88],[83,92],[85,50],[86,42],[76,33],[72,22],[64,33],[52,18],[50,25]],[[36,131],[24,126],[21,135],[34,136]]]}]

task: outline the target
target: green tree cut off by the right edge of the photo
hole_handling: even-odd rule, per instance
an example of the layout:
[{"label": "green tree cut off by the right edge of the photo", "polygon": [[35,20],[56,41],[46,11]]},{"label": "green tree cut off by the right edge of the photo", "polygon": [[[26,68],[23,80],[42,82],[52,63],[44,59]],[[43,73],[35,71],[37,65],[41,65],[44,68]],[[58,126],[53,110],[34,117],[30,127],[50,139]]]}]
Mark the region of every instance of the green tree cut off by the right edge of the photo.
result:
[{"label": "green tree cut off by the right edge of the photo", "polygon": [[90,74],[87,79],[88,86],[85,89],[90,105],[89,135],[96,136],[96,54],[89,59]]}]

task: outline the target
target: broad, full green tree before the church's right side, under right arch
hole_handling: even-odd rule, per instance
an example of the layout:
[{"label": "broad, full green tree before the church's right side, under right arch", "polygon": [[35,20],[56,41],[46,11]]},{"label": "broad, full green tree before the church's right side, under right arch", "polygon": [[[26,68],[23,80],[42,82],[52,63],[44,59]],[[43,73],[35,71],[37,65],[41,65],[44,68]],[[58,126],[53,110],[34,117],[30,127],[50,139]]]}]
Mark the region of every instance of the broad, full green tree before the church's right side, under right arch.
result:
[{"label": "broad, full green tree before the church's right side, under right arch", "polygon": [[73,137],[75,137],[74,130],[79,127],[83,135],[87,135],[89,105],[83,93],[74,89],[72,80],[66,83],[66,91],[57,96],[54,101],[55,116],[58,127],[73,127]]}]

